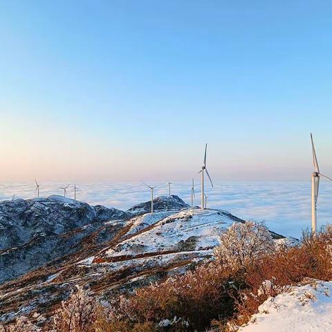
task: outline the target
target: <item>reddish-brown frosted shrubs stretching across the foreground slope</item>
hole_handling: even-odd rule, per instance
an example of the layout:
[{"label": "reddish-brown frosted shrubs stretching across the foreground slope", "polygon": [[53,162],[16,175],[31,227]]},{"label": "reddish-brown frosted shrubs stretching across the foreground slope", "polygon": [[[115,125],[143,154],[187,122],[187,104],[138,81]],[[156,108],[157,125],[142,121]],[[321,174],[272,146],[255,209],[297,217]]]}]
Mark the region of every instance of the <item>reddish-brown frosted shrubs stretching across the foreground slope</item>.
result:
[{"label": "reddish-brown frosted shrubs stretching across the foreground slope", "polygon": [[[225,260],[219,256],[185,275],[139,288],[131,295],[120,295],[108,304],[101,304],[79,288],[62,303],[44,331],[236,331],[269,296],[306,278],[332,279],[331,227],[315,236],[305,233],[299,246],[277,246],[274,250],[261,241],[255,242],[260,243],[260,248],[253,248],[251,241],[246,247],[243,243],[247,242],[239,234],[257,239],[257,234],[266,237],[266,233],[255,227],[250,234],[243,230],[233,238],[236,243],[230,241],[230,233],[226,232],[227,246],[238,246],[240,241],[243,250],[250,248],[258,253],[252,259],[243,259],[243,252],[234,251],[232,255],[239,257]],[[226,249],[219,250],[219,254]]]}]

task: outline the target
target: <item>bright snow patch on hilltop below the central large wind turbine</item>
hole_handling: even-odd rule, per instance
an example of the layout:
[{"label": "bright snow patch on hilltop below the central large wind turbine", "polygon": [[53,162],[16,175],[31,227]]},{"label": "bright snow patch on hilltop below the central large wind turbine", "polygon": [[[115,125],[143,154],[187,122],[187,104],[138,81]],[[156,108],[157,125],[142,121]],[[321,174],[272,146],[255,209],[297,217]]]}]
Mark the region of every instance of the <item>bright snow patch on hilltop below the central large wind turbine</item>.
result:
[{"label": "bright snow patch on hilltop below the central large wind turbine", "polygon": [[[151,223],[160,219],[167,212],[158,212],[138,219],[139,223]],[[165,215],[164,215],[165,216]],[[142,218],[142,216],[140,217]],[[224,232],[234,221],[221,210],[187,209],[166,216],[156,222],[153,228],[134,234],[107,250],[108,257],[137,255],[147,252],[163,252],[167,250],[203,250],[219,244],[221,232]]]}]

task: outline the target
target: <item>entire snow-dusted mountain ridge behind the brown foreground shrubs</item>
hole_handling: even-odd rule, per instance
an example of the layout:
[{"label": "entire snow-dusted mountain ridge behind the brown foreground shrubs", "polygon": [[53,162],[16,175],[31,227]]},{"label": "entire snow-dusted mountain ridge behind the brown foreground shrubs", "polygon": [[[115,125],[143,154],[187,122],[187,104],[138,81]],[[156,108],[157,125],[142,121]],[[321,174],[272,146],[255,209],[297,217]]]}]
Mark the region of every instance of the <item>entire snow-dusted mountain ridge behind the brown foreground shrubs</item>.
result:
[{"label": "entire snow-dusted mountain ridge behind the brown foreground shrubs", "polygon": [[227,211],[189,208],[178,196],[154,205],[151,214],[149,201],[127,212],[61,196],[0,203],[0,282],[8,281],[0,284],[0,321],[47,314],[76,284],[107,298],[185,273],[243,222]]}]

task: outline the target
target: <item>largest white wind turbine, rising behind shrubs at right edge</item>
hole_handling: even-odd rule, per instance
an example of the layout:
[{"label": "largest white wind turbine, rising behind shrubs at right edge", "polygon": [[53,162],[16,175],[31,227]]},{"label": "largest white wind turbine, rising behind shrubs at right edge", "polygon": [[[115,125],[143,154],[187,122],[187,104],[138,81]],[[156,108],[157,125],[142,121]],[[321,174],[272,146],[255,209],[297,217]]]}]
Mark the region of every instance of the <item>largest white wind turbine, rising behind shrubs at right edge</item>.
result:
[{"label": "largest white wind turbine, rising behind shrubs at right edge", "polygon": [[328,178],[332,181],[332,178],[320,173],[320,167],[318,167],[317,156],[315,151],[315,145],[313,145],[313,135],[311,136],[311,147],[313,148],[313,167],[315,171],[311,174],[311,232],[315,234],[317,230],[317,199],[318,199],[318,190],[320,188],[320,176]]}]

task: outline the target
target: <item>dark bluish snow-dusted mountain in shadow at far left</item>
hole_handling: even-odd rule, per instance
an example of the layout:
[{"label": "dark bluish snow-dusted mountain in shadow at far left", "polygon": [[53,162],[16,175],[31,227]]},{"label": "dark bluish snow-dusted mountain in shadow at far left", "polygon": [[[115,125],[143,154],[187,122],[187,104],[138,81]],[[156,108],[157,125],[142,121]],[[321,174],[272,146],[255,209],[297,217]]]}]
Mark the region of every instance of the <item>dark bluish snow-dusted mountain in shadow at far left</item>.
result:
[{"label": "dark bluish snow-dusted mountain in shadow at far left", "polygon": [[75,252],[104,221],[126,218],[57,195],[0,202],[0,283]]}]

